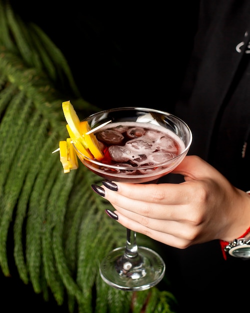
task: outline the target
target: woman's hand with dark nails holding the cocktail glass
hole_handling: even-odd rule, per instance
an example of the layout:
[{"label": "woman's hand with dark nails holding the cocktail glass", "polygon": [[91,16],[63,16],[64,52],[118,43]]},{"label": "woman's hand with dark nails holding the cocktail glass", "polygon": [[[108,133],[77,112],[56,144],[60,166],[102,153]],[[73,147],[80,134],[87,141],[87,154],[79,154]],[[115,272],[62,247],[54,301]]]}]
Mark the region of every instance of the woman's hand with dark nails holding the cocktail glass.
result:
[{"label": "woman's hand with dark nails holding the cocktail glass", "polygon": [[118,182],[117,191],[102,186],[118,222],[178,248],[213,239],[230,241],[249,228],[250,195],[213,166],[190,155],[173,173],[184,175],[185,182]]}]

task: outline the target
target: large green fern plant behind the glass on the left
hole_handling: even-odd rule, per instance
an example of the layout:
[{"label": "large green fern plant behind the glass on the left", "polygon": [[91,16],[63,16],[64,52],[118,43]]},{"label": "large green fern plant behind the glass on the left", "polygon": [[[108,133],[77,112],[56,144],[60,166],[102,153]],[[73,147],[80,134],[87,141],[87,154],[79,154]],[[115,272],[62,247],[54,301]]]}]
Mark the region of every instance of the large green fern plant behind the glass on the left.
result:
[{"label": "large green fern plant behind the glass on the left", "polygon": [[125,244],[126,229],[104,213],[111,204],[90,187],[102,178],[81,163],[64,174],[59,153],[51,154],[67,136],[61,102],[72,95],[83,116],[98,109],[79,96],[48,36],[0,0],[1,270],[11,274],[7,238],[13,236],[20,278],[45,300],[52,294],[58,305],[67,301],[70,313],[172,313],[171,293],[121,291],[100,277],[101,259]]}]

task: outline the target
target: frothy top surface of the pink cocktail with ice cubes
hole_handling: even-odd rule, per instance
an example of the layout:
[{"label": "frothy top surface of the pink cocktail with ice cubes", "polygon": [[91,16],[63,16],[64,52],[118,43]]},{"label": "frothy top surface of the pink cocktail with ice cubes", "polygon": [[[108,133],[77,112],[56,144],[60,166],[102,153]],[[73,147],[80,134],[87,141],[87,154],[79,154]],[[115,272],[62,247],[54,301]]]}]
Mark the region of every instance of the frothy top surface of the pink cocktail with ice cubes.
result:
[{"label": "frothy top surface of the pink cocktail with ice cubes", "polygon": [[[164,129],[164,131],[162,131]],[[180,139],[172,131],[148,123],[113,123],[96,133],[104,144],[102,163],[140,167],[165,162],[180,154]]]}]

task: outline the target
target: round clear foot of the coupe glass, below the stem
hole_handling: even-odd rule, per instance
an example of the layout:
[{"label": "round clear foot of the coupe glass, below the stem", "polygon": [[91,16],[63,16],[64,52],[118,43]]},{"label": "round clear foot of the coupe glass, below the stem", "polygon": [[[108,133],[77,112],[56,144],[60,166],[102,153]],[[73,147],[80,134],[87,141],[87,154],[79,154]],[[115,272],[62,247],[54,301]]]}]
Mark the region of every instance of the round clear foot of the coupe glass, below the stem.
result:
[{"label": "round clear foot of the coupe glass, below the stem", "polygon": [[165,273],[165,263],[155,251],[138,246],[138,255],[129,257],[125,247],[119,247],[102,260],[102,279],[121,290],[146,290],[161,281]]}]

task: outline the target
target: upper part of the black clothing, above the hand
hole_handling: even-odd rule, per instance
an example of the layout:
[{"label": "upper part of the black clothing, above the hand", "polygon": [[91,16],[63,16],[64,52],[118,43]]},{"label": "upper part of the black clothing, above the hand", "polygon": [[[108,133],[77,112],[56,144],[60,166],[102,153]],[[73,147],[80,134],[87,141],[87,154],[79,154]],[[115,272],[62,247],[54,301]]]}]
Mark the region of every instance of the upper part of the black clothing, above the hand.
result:
[{"label": "upper part of the black clothing, above the hand", "polygon": [[[199,31],[176,114],[193,130],[190,153],[244,189],[250,187],[241,166],[250,124],[250,2],[213,2],[201,1]],[[240,42],[244,44],[238,52]]]}]

